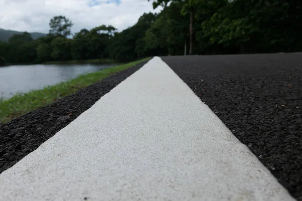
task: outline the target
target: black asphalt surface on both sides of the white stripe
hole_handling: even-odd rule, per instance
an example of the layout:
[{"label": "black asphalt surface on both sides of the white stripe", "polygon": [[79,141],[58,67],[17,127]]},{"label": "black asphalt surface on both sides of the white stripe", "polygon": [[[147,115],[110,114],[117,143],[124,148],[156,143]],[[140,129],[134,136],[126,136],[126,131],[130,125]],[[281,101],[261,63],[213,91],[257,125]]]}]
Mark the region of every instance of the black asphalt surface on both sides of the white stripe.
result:
[{"label": "black asphalt surface on both sides of the white stripe", "polygon": [[[302,54],[162,59],[279,183],[302,200]],[[78,118],[143,64],[0,125],[0,173]],[[194,114],[198,116],[196,111]]]}]

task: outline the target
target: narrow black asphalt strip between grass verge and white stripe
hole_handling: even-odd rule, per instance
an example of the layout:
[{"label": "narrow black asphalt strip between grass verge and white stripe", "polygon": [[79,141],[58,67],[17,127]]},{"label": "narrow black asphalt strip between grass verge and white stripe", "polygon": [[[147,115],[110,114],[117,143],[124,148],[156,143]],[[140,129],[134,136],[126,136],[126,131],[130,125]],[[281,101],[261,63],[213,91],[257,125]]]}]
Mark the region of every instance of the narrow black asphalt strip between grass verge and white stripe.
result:
[{"label": "narrow black asphalt strip between grass verge and white stripe", "polygon": [[67,126],[147,61],[6,124],[0,124],[0,173]]}]

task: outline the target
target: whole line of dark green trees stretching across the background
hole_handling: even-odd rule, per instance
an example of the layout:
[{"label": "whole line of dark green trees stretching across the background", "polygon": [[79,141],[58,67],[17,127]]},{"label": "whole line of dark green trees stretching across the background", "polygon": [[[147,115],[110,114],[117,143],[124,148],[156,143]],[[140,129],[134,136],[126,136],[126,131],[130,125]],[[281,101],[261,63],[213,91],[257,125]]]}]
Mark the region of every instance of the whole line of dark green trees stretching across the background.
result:
[{"label": "whole line of dark green trees stretching across the background", "polygon": [[154,55],[294,52],[302,50],[302,2],[296,0],[146,0],[145,13],[121,32],[101,25],[72,34],[64,16],[50,20],[37,40],[24,32],[0,43],[0,63],[110,58],[131,61]]}]

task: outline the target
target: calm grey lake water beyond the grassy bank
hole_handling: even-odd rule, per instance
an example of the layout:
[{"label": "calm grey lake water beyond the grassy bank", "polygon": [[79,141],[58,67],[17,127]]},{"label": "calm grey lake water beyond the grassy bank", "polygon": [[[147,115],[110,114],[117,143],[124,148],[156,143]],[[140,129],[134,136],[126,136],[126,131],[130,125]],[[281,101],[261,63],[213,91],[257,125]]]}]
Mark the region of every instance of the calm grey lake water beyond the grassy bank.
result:
[{"label": "calm grey lake water beyond the grassy bank", "polygon": [[0,98],[12,97],[16,92],[28,92],[81,74],[96,72],[114,64],[14,65],[0,67]]}]

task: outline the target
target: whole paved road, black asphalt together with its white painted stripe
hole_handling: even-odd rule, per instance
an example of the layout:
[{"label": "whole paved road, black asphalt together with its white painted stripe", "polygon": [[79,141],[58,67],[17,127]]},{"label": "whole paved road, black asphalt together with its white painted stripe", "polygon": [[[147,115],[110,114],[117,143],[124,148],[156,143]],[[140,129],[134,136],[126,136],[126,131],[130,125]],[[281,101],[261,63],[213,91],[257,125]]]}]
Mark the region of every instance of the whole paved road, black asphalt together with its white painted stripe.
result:
[{"label": "whole paved road, black asphalt together with its white painted stripe", "polygon": [[[32,121],[28,114],[0,125],[0,137],[13,143],[0,161],[11,167],[0,174],[7,184],[0,199],[293,200],[288,190],[299,200],[299,55],[162,59],[136,67],[124,81],[119,74],[124,78],[109,84],[110,92],[103,91],[106,80],[84,89],[101,99],[76,117],[59,109],[77,112],[81,93],[66,98],[74,104],[62,100],[35,111]],[[46,109],[50,123],[29,129]],[[53,119],[56,129],[67,126],[49,129]],[[16,132],[25,133],[17,142]],[[35,148],[25,152],[22,143]]]}]

